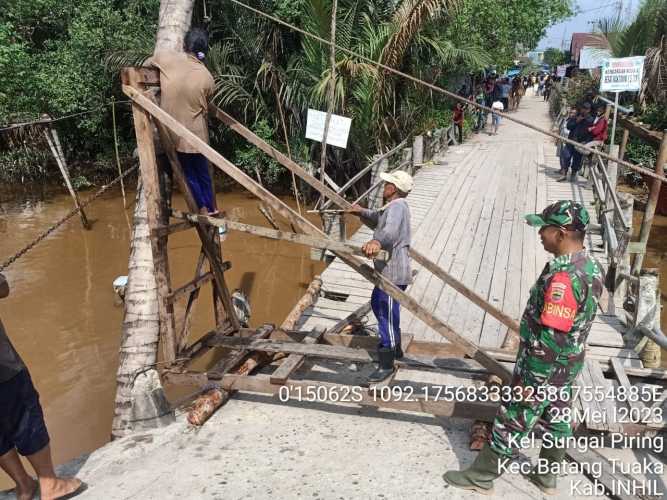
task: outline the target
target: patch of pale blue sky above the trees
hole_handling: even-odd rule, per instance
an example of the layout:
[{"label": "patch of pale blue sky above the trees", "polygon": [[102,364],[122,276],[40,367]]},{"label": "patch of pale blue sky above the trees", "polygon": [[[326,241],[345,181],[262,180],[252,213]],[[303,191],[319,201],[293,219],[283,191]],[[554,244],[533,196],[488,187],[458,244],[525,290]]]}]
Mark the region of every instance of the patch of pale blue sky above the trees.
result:
[{"label": "patch of pale blue sky above the trees", "polygon": [[634,18],[639,10],[642,0],[575,0],[575,14],[562,23],[553,25],[547,29],[547,33],[540,40],[538,49],[544,50],[548,47],[561,48],[563,37],[565,44],[562,47],[567,50],[570,47],[572,33],[589,32],[593,29],[596,20],[606,17],[616,17],[621,8],[624,20]]}]

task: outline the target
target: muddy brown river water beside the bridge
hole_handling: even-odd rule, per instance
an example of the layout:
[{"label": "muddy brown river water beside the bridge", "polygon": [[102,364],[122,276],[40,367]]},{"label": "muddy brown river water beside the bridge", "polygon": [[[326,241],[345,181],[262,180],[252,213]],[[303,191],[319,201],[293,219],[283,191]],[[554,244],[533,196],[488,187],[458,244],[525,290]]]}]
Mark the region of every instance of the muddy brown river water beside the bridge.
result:
[{"label": "muddy brown river water beside the bridge", "polygon": [[[0,203],[2,260],[72,206],[62,194],[19,198]],[[133,193],[128,200],[134,200]],[[283,201],[294,206],[292,199]],[[174,204],[183,207],[182,200]],[[218,196],[218,204],[232,218],[268,225],[250,195],[226,193]],[[39,390],[56,463],[106,443],[113,416],[123,309],[111,284],[127,274],[132,208],[124,211],[120,194],[112,193],[93,203],[87,214],[94,221],[92,231],[84,231],[74,218],[10,266],[5,275],[11,292],[0,301],[7,333]],[[172,286],[177,287],[193,278],[200,245],[196,233],[186,231],[173,235],[169,246]],[[230,289],[249,294],[252,326],[280,324],[324,269],[310,259],[307,247],[238,232],[227,237],[223,255],[232,262],[226,273]],[[207,285],[193,334],[213,327],[211,302]],[[9,486],[0,473],[0,489]]]}]

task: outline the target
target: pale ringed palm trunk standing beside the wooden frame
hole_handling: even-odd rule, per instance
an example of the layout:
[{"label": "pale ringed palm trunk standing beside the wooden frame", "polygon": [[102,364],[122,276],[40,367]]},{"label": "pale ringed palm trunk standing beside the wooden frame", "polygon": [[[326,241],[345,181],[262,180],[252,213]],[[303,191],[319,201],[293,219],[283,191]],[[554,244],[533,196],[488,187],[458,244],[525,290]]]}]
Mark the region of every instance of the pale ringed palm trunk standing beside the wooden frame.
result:
[{"label": "pale ringed palm trunk standing beside the wooden frame", "polygon": [[[183,39],[190,27],[193,5],[194,0],[162,0],[160,2],[160,20],[154,53],[167,49],[183,50]],[[132,414],[133,401],[138,396],[136,391],[133,391],[135,377],[139,372],[152,369],[157,362],[160,321],[157,286],[153,271],[146,200],[140,182],[137,189],[134,229],[130,243],[125,314],[116,375],[117,388],[112,438],[119,438],[132,432],[133,421],[138,418],[138,415]],[[160,393],[159,378],[149,377],[149,379],[157,380],[157,382],[153,386],[142,384],[142,390],[149,391],[151,394]],[[155,396],[152,397],[156,399]],[[159,412],[159,405],[156,409]],[[164,421],[159,414],[154,417],[156,424]],[[141,418],[145,422],[145,419],[150,419],[150,416],[142,415]]]}]

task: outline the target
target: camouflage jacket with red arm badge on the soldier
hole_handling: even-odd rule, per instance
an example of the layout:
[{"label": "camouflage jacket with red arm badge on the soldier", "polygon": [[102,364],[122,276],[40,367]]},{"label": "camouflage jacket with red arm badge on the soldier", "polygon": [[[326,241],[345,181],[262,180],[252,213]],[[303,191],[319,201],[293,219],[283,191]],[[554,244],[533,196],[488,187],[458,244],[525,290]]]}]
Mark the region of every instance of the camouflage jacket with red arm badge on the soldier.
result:
[{"label": "camouflage jacket with red arm badge on the soldier", "polygon": [[[583,354],[602,295],[602,266],[586,250],[544,266],[521,318],[522,350],[547,351],[545,361]],[[580,358],[581,359],[581,358]]]}]

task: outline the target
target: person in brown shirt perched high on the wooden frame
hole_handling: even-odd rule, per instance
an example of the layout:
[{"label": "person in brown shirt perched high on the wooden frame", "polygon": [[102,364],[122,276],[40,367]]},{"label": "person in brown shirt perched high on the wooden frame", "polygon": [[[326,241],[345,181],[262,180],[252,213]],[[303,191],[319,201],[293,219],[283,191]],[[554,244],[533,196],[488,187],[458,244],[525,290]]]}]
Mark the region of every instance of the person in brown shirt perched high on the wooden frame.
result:
[{"label": "person in brown shirt perched high on the wooden frame", "polygon": [[[150,60],[160,70],[160,106],[208,144],[208,101],[215,81],[202,63],[208,52],[208,34],[193,28],[185,35],[185,52],[162,51]],[[215,214],[208,160],[185,138],[170,134],[188,186],[203,214]]]}]

